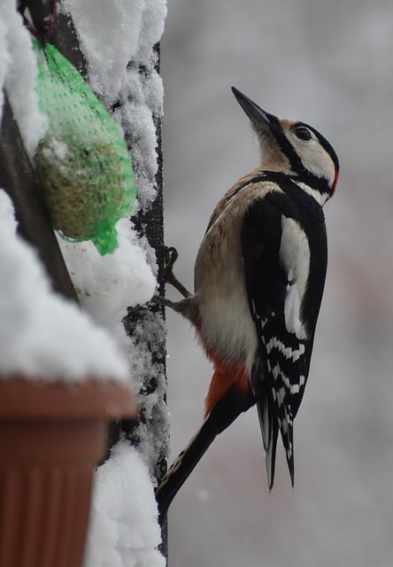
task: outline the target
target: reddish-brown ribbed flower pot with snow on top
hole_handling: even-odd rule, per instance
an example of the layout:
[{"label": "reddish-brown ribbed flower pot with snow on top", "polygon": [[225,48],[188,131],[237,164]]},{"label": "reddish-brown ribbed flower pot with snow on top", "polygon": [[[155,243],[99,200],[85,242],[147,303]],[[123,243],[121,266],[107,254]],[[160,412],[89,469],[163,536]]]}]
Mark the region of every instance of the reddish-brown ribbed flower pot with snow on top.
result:
[{"label": "reddish-brown ribbed flower pot with snow on top", "polygon": [[2,567],[80,567],[107,423],[135,413],[116,382],[0,379]]}]

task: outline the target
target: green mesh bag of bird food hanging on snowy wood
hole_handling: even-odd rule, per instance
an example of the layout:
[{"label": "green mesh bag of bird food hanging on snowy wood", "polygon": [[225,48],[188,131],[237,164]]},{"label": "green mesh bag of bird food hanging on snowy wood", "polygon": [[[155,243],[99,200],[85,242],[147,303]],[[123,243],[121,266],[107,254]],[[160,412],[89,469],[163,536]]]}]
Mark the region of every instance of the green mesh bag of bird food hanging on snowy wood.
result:
[{"label": "green mesh bag of bird food hanging on snowy wood", "polygon": [[38,53],[36,90],[49,120],[35,171],[53,228],[66,240],[91,240],[101,254],[117,246],[115,224],[130,214],[135,180],[118,126],[81,74],[53,45]]}]

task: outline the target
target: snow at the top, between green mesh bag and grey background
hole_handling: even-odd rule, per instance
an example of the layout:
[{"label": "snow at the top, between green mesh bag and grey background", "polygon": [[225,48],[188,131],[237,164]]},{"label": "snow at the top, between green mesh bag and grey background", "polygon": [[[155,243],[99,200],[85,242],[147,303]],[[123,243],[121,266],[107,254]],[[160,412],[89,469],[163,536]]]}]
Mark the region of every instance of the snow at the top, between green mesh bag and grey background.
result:
[{"label": "snow at the top, between green mesh bag and grey background", "polygon": [[[141,206],[156,197],[157,139],[154,119],[162,114],[162,81],[153,47],[161,38],[165,0],[95,2],[67,0],[89,82],[127,133]],[[131,63],[130,63],[131,62]],[[143,72],[141,73],[141,70]]]}]

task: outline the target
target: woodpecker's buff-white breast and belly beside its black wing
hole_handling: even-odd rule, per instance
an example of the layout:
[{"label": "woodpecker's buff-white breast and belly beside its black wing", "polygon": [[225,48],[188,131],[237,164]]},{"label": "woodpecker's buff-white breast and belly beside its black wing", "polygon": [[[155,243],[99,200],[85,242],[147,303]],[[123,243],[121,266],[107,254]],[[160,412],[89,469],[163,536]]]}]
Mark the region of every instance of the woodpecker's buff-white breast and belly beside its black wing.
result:
[{"label": "woodpecker's buff-white breast and belly beside its black wing", "polygon": [[241,226],[250,202],[275,189],[273,183],[253,185],[227,202],[221,201],[196,258],[199,333],[204,345],[224,361],[242,361],[249,370],[258,335],[245,286]]}]

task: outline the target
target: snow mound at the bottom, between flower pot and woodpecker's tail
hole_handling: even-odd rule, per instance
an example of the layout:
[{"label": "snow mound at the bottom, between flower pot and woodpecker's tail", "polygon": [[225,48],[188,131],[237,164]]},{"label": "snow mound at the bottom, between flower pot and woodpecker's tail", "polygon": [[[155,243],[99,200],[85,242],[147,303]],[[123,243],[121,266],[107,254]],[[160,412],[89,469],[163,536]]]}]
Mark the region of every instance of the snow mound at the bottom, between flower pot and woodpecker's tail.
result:
[{"label": "snow mound at the bottom, between flower pot and woodpecker's tail", "polygon": [[149,471],[124,442],[96,471],[85,567],[164,567]]}]

